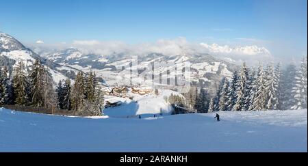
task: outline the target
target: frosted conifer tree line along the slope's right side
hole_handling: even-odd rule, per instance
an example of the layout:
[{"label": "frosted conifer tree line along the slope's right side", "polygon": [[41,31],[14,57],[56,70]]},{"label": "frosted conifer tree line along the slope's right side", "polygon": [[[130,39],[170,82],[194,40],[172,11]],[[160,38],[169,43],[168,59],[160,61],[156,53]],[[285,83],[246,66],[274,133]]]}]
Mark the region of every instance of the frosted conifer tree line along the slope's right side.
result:
[{"label": "frosted conifer tree line along the slope's right side", "polygon": [[300,66],[281,63],[249,68],[245,63],[233,72],[230,79],[222,78],[214,97],[204,87],[190,87],[185,100],[170,96],[172,104],[176,99],[180,105],[191,107],[198,113],[212,111],[261,111],[307,109],[307,57]]}]

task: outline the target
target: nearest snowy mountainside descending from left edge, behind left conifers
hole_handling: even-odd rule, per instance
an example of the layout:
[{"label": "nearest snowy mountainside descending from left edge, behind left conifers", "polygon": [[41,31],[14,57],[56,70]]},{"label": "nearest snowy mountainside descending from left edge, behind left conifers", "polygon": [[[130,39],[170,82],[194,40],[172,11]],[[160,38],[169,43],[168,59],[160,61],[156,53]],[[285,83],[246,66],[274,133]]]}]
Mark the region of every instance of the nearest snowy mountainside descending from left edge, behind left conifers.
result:
[{"label": "nearest snowy mountainside descending from left edge, behind left conifers", "polygon": [[0,32],[0,66],[8,66],[9,71],[12,72],[16,63],[18,61],[23,61],[25,66],[27,66],[27,70],[29,70],[29,66],[31,66],[36,59],[40,59],[42,64],[49,69],[55,83],[67,77],[73,78],[77,71],[75,68],[62,66],[49,59],[40,57],[40,55],[26,48],[12,36]]}]

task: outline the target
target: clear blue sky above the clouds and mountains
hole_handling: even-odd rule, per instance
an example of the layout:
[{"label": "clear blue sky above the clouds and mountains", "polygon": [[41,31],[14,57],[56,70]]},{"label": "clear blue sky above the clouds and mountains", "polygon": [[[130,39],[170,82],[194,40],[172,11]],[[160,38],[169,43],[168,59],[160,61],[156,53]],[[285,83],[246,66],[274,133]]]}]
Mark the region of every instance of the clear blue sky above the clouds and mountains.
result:
[{"label": "clear blue sky above the clouds and mountains", "polygon": [[0,31],[22,42],[257,44],[307,54],[307,0],[1,0]]}]

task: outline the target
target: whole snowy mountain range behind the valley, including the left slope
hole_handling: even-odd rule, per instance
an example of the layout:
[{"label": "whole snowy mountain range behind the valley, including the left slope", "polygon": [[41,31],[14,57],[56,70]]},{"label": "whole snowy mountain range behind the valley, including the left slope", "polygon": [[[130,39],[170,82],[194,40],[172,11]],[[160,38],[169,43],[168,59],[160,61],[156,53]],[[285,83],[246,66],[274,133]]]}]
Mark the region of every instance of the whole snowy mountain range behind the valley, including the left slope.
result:
[{"label": "whole snowy mountain range behind the valley, including the left slope", "polygon": [[[131,55],[125,53],[114,53],[112,55],[99,55],[95,53],[84,53],[81,49],[69,47],[59,51],[49,51],[35,53],[35,49],[29,49],[21,42],[6,33],[0,33],[0,66],[8,66],[12,72],[12,67],[17,61],[24,61],[29,69],[29,66],[40,59],[42,64],[49,68],[53,75],[53,80],[56,82],[70,78],[74,79],[77,71],[81,70],[88,72],[90,70],[96,72],[101,83],[105,85],[118,85],[116,77],[119,73],[129,73],[131,70]],[[146,70],[155,61],[172,62],[170,68],[176,68],[177,64],[190,62],[190,76],[193,83],[202,83],[208,89],[217,87],[218,81],[222,77],[231,77],[234,70],[238,66],[209,55],[207,53],[182,53],[179,55],[163,55],[162,53],[148,53],[138,57],[138,72],[136,75],[129,77],[139,77],[141,72],[149,72],[145,74],[153,74],[151,70]],[[128,68],[123,68],[128,66]],[[167,68],[164,66],[159,69],[161,77],[167,74]],[[127,75],[127,74],[124,74]],[[126,76],[125,76],[126,77]],[[142,79],[138,83],[152,84],[153,81],[149,78]]]}]

